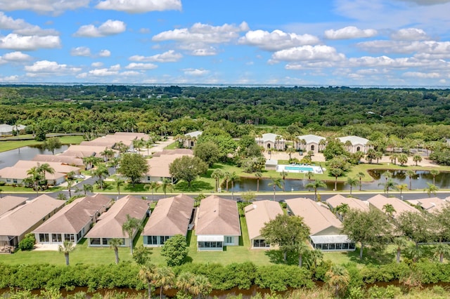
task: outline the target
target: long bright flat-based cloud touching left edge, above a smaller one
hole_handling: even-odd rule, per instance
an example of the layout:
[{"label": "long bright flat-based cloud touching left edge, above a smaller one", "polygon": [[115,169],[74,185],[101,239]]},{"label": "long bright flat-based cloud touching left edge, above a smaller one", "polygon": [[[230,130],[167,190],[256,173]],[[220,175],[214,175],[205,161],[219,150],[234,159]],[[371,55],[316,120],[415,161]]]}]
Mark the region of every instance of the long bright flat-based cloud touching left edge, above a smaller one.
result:
[{"label": "long bright flat-based cloud touching left edge, above a smaller one", "polygon": [[59,36],[21,36],[18,34],[8,34],[0,36],[0,48],[34,51],[38,48],[60,48]]}]

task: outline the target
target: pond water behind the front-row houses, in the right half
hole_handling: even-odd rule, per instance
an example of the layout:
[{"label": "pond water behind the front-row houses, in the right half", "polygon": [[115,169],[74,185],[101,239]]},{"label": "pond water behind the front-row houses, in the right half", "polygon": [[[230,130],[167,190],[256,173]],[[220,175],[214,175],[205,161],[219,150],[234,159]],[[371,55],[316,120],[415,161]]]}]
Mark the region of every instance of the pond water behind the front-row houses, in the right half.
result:
[{"label": "pond water behind the front-row houses, in the right half", "polygon": [[[372,182],[363,182],[362,189],[363,190],[382,190],[383,186],[379,185],[380,183],[385,182],[385,178],[383,177],[383,173],[385,170],[371,170],[368,173],[373,178]],[[396,185],[406,184],[409,186],[409,177],[406,175],[406,171],[390,171],[392,173],[392,180]],[[259,180],[259,191],[273,191],[274,187],[269,187],[270,179],[261,179]],[[286,178],[285,180],[285,191],[308,191],[305,187],[310,181],[307,176],[303,180],[289,180]],[[433,183],[433,177],[430,175],[429,171],[416,171],[416,175],[411,178],[411,187],[416,190],[423,190],[428,187],[427,182],[430,184]],[[326,181],[327,190],[333,190],[335,187],[335,182],[333,178],[329,178]],[[450,173],[441,172],[436,175],[435,185],[439,187],[439,189],[449,188],[450,187]],[[222,190],[226,189],[225,185],[222,185]],[[359,187],[353,187],[353,190],[358,190]],[[254,178],[241,178],[240,181],[235,182],[234,191],[236,192],[244,192],[244,191],[256,191],[257,190],[257,180]],[[347,185],[346,182],[338,182],[338,191],[340,190],[350,190],[350,186]],[[231,184],[229,184],[229,191],[231,191]],[[278,187],[277,187],[277,191]]]}]

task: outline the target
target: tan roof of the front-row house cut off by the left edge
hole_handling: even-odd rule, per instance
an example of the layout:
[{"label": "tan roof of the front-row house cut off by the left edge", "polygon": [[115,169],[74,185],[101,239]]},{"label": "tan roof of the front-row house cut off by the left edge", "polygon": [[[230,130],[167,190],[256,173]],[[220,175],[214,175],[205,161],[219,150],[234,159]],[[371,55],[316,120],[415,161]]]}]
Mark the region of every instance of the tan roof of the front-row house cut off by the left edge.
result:
[{"label": "tan roof of the front-row house cut off by the left edge", "polygon": [[0,216],[0,236],[20,236],[30,232],[44,217],[58,210],[65,201],[43,194]]}]

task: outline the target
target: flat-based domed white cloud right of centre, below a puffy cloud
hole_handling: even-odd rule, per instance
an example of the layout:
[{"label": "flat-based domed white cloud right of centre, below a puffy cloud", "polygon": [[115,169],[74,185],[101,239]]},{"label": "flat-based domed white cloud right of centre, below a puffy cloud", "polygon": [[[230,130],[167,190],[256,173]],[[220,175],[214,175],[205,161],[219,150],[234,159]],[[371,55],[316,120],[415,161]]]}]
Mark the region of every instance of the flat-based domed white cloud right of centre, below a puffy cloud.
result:
[{"label": "flat-based domed white cloud right of centre, below a puffy cloud", "polygon": [[330,46],[318,45],[318,46],[301,46],[295,48],[289,48],[281,51],[277,51],[272,54],[270,63],[279,61],[309,61],[309,60],[322,60],[322,61],[340,61],[344,60],[345,55],[338,53],[335,48]]}]

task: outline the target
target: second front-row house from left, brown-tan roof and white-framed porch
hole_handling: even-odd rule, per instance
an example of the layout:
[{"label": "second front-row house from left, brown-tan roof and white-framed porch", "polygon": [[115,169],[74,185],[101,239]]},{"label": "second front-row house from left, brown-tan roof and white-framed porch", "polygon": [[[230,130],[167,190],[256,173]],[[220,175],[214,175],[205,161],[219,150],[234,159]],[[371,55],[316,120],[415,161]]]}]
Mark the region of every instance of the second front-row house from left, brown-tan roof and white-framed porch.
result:
[{"label": "second front-row house from left, brown-tan roof and white-framed porch", "polygon": [[111,201],[102,194],[75,199],[33,231],[36,241],[41,244],[63,244],[68,240],[77,244],[98,216],[110,207]]}]

